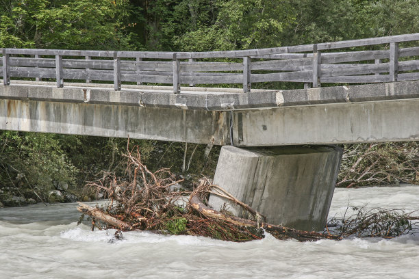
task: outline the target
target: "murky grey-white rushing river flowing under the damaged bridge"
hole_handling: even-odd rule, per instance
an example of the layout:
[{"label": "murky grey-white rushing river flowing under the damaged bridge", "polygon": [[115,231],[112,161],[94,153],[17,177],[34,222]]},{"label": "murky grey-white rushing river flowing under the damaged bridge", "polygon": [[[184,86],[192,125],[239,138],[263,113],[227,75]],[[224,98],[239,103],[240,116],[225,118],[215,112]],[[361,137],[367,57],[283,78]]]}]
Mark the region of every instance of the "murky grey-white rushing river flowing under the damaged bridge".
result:
[{"label": "murky grey-white rushing river flowing under the damaged bridge", "polygon": [[[90,203],[94,204],[94,203]],[[419,209],[419,186],[335,189],[346,207]],[[0,209],[0,278],[419,278],[419,234],[300,243],[92,232],[75,204]]]}]

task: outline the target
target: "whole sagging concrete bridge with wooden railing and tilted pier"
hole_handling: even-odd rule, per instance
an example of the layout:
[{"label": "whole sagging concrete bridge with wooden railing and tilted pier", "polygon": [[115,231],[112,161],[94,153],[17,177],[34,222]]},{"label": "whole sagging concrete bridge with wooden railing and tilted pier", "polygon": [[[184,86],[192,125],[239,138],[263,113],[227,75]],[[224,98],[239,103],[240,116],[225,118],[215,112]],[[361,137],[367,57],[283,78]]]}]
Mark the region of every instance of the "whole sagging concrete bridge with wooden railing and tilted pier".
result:
[{"label": "whole sagging concrete bridge with wooden railing and tilted pier", "polygon": [[[419,140],[418,40],[177,53],[2,49],[0,129],[226,145],[214,183],[272,222],[318,229],[342,157],[329,144]],[[252,88],[267,82],[304,88]]]}]

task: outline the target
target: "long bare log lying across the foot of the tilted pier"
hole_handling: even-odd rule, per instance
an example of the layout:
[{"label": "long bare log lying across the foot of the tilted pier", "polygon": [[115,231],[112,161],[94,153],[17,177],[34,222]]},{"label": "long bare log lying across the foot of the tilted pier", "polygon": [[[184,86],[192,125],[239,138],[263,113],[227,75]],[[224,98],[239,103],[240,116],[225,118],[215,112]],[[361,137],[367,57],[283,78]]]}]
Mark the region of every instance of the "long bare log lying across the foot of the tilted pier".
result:
[{"label": "long bare log lying across the foot of the tilted pier", "polygon": [[203,202],[201,202],[201,200],[195,195],[190,197],[189,202],[190,202],[191,207],[193,207],[196,211],[199,211],[199,213],[202,213],[203,215],[207,217],[225,220],[227,222],[231,222],[238,226],[253,226],[256,228],[260,226],[261,228],[264,228],[264,230],[268,232],[275,233],[276,237],[278,237],[278,235],[281,235],[280,238],[283,238],[283,239],[294,238],[299,241],[315,241],[315,240],[320,240],[320,239],[336,239],[336,240],[341,239],[341,237],[338,237],[336,235],[326,235],[322,233],[308,232],[305,230],[295,230],[293,228],[272,225],[265,222],[257,224],[257,222],[253,220],[247,220],[247,219],[243,219],[243,218],[235,217],[235,216],[227,216],[227,215],[224,215],[223,213],[215,211],[214,209],[210,209],[210,207],[207,207],[205,204],[203,204]]}]

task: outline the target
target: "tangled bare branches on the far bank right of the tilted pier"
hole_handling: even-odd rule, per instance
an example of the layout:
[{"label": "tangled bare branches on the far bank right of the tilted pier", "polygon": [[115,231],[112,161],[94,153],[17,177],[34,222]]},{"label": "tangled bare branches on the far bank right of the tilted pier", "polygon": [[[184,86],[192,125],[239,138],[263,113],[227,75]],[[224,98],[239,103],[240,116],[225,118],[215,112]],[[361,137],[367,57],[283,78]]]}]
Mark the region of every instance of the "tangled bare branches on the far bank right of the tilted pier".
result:
[{"label": "tangled bare branches on the far bank right of the tilted pier", "polygon": [[419,183],[419,144],[347,144],[336,187]]}]

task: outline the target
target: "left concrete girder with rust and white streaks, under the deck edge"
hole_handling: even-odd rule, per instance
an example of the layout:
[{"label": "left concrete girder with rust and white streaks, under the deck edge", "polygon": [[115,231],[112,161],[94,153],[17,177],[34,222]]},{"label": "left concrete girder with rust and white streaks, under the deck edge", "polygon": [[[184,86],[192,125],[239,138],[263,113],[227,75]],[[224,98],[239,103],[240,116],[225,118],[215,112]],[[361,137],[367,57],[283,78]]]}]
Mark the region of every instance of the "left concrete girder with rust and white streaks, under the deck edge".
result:
[{"label": "left concrete girder with rust and white streaks, under the deck edge", "polygon": [[127,105],[3,99],[0,129],[216,145],[230,142],[227,112]]}]

